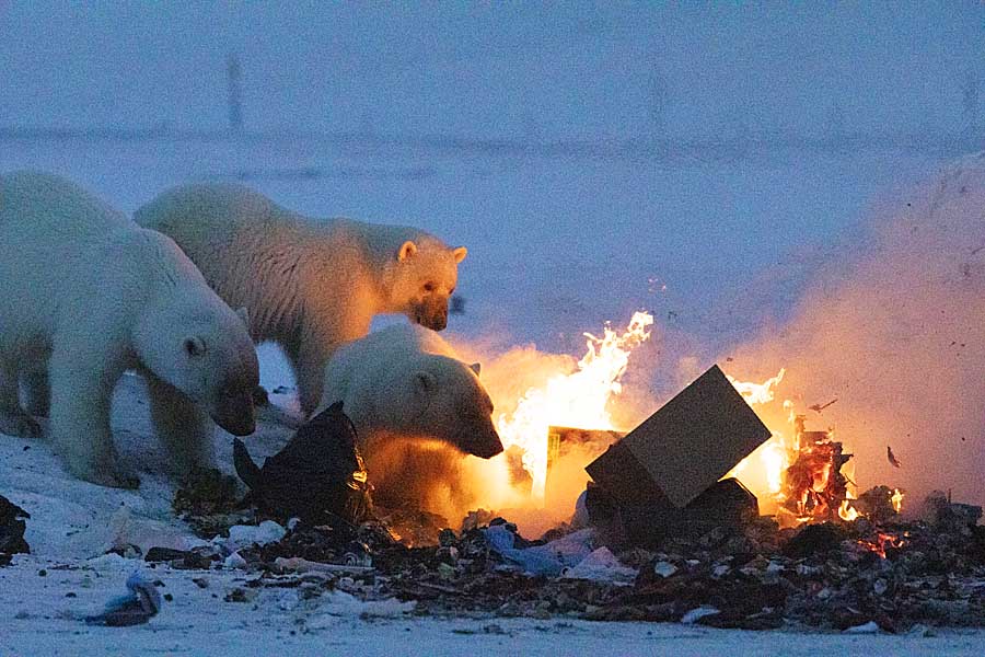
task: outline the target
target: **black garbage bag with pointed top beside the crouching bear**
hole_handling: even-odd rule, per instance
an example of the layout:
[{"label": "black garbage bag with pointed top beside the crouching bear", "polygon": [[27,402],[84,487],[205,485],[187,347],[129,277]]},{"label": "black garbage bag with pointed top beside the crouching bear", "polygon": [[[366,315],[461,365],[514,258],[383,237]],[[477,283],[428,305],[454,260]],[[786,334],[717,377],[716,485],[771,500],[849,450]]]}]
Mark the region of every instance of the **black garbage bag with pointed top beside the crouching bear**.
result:
[{"label": "black garbage bag with pointed top beside the crouching bear", "polygon": [[275,515],[320,525],[333,517],[356,523],[369,514],[366,465],[341,402],[305,423],[263,468],[256,466],[243,441],[235,440],[233,463],[257,506]]}]

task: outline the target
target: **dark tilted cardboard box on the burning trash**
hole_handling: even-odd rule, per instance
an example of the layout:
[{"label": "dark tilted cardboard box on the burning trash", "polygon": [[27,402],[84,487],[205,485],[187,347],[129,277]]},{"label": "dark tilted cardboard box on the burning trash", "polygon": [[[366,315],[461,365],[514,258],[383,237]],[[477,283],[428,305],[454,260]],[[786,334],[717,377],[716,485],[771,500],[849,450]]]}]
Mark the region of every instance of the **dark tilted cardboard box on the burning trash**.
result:
[{"label": "dark tilted cardboard box on the burning trash", "polygon": [[769,436],[716,365],[586,470],[621,503],[683,508]]}]

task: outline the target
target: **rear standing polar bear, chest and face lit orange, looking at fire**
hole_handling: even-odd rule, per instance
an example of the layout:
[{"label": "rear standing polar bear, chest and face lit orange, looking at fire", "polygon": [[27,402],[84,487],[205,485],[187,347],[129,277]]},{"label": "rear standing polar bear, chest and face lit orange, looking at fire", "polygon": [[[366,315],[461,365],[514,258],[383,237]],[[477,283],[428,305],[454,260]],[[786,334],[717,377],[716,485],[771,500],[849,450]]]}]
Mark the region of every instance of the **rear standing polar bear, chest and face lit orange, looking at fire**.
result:
[{"label": "rear standing polar bear, chest and face lit orange, looking at fire", "polygon": [[278,343],[291,361],[306,416],[332,353],[364,336],[373,315],[445,327],[467,253],[415,228],[309,219],[232,184],[171,189],[135,219],[174,239],[227,303],[250,309],[254,341]]}]

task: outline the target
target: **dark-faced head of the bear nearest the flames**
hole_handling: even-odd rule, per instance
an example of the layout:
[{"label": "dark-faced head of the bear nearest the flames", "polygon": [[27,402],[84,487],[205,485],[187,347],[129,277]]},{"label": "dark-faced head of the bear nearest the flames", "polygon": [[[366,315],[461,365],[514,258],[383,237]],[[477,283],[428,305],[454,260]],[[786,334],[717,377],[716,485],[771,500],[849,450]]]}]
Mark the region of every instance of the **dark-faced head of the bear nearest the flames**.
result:
[{"label": "dark-faced head of the bear nearest the flames", "polygon": [[467,454],[491,459],[502,451],[493,424],[493,400],[478,379],[478,364],[424,355],[409,381],[416,433],[437,438]]}]

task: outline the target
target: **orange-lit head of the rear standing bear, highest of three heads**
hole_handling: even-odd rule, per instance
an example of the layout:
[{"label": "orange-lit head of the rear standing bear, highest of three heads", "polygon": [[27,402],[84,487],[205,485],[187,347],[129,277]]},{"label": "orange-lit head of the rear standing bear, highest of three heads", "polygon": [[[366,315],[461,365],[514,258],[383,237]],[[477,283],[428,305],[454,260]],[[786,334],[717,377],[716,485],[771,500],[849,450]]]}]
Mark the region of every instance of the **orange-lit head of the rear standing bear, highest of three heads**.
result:
[{"label": "orange-lit head of the rear standing bear, highest of three heads", "polygon": [[448,300],[468,250],[451,249],[434,238],[406,241],[390,266],[390,304],[421,326],[448,326]]}]

